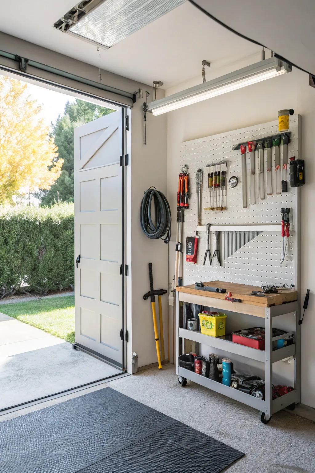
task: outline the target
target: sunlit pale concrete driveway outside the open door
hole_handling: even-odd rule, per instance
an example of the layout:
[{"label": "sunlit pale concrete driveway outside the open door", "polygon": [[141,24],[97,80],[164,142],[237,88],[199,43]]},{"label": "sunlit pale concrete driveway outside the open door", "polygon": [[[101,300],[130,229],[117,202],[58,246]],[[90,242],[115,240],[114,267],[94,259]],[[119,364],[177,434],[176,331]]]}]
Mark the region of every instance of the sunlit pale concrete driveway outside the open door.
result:
[{"label": "sunlit pale concrete driveway outside the open door", "polygon": [[0,313],[0,409],[118,373],[70,343]]}]

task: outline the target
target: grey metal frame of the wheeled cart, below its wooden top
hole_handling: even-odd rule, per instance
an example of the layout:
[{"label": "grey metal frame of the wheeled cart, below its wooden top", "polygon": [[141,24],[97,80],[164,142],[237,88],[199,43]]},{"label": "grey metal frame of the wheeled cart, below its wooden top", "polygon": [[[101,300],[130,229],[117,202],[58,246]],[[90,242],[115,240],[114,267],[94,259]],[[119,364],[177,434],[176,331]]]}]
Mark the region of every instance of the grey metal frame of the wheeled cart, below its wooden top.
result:
[{"label": "grey metal frame of the wheeled cart, below its wooden top", "polygon": [[[199,304],[205,307],[215,307],[220,310],[225,309],[237,312],[238,314],[249,314],[264,318],[265,350],[256,350],[255,348],[204,335],[200,331],[183,329],[179,326],[179,311],[182,302]],[[289,326],[292,327],[292,331],[288,332],[287,335],[293,333],[295,343],[272,351],[272,341],[283,338],[284,336],[272,337],[272,319],[279,315],[286,316],[286,321]],[[272,307],[257,307],[251,304],[231,303],[230,301],[222,299],[204,297],[202,294],[196,295],[176,291],[176,374],[183,380],[189,379],[190,381],[194,381],[195,383],[212,389],[217,393],[224,394],[236,401],[254,407],[260,411],[260,419],[262,422],[267,423],[275,412],[281,411],[281,409],[287,407],[294,409],[295,404],[300,402],[300,325],[298,324],[298,320],[298,301],[288,302]],[[180,350],[180,339],[192,340],[194,342],[226,351],[227,354],[230,354],[231,356],[233,354],[241,355],[246,357],[248,360],[253,359],[264,363],[265,400],[263,401],[262,399],[258,399],[250,394],[238,391],[238,389],[233,389],[229,386],[213,381],[212,379],[198,375],[193,371],[179,367],[178,357],[182,354],[182,350],[184,349],[182,348]],[[184,341],[182,342],[181,347],[184,347]],[[276,361],[289,356],[294,357],[294,390],[272,400],[272,365]],[[250,363],[248,364],[250,365]],[[182,385],[185,384],[186,381]]]}]

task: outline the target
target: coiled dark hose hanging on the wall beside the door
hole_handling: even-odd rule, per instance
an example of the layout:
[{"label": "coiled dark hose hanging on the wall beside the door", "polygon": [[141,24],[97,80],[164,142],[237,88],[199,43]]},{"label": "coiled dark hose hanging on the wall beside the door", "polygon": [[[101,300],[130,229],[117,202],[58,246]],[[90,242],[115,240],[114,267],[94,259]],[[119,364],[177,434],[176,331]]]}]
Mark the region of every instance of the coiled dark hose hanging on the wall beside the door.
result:
[{"label": "coiled dark hose hanging on the wall beside the door", "polygon": [[[152,203],[154,204],[155,223],[151,215]],[[170,204],[165,195],[157,191],[155,187],[150,187],[145,191],[140,206],[140,224],[148,238],[152,240],[161,238],[164,243],[170,242]]]}]

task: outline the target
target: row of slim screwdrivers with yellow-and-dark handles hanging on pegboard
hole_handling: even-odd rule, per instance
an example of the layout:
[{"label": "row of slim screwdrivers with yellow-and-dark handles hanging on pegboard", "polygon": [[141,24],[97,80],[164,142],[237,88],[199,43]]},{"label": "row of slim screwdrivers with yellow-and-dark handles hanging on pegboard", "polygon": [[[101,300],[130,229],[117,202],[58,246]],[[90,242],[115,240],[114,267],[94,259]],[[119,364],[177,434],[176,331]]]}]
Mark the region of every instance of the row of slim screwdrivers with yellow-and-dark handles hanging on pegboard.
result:
[{"label": "row of slim screwdrivers with yellow-and-dark handles hanging on pegboard", "polygon": [[226,172],[227,161],[207,164],[208,173],[208,207],[204,210],[226,210]]}]

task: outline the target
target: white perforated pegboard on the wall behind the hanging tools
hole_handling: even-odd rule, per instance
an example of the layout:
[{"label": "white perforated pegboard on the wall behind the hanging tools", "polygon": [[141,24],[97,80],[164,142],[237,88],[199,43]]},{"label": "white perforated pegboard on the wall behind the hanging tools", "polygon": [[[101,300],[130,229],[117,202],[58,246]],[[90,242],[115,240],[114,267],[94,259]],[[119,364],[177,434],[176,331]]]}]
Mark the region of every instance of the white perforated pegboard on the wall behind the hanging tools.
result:
[{"label": "white perforated pegboard on the wall behind the hanging tools", "polygon": [[[290,143],[288,145],[288,159],[291,156],[299,157],[299,131],[300,116],[290,116],[291,132]],[[256,173],[255,173],[255,204],[250,204],[250,157],[247,151],[247,208],[242,206],[242,181],[241,181],[241,152],[233,151],[232,147],[240,142],[264,138],[279,134],[278,120],[269,123],[262,123],[240,130],[234,130],[218,135],[201,138],[198,140],[186,141],[180,146],[180,167],[187,164],[190,177],[191,199],[189,209],[184,211],[184,260],[186,253],[186,236],[196,235],[197,225],[197,195],[196,195],[196,171],[202,168],[203,189],[202,189],[202,225],[211,223],[212,225],[246,225],[246,224],[271,224],[281,223],[281,207],[290,207],[290,237],[287,253],[284,262],[280,266],[282,259],[282,237],[281,232],[263,232],[256,236],[246,245],[242,246],[236,253],[223,261],[223,233],[221,233],[221,263],[209,261],[203,266],[204,253],[206,250],[206,232],[198,232],[199,248],[197,263],[184,263],[183,277],[184,284],[191,284],[197,280],[229,280],[230,282],[240,282],[244,284],[255,284],[261,286],[264,283],[270,284],[295,284],[298,285],[298,188],[289,186],[289,165],[287,170],[288,192],[276,195],[275,193],[275,171],[274,171],[274,148],[272,147],[272,195],[266,194],[266,168],[267,158],[264,150],[264,200],[258,195],[258,152],[255,152]],[[282,146],[280,146],[280,158],[282,168]],[[227,189],[227,210],[212,211],[204,210],[208,207],[208,171],[207,164],[226,160],[228,162],[226,174]],[[239,184],[235,188],[230,188],[229,178],[235,175]],[[211,234],[211,254],[215,249],[215,236]]]}]

